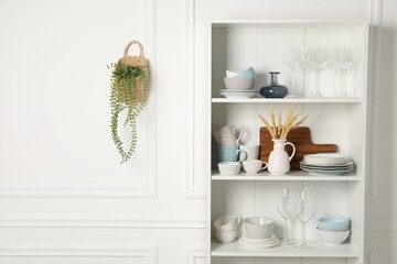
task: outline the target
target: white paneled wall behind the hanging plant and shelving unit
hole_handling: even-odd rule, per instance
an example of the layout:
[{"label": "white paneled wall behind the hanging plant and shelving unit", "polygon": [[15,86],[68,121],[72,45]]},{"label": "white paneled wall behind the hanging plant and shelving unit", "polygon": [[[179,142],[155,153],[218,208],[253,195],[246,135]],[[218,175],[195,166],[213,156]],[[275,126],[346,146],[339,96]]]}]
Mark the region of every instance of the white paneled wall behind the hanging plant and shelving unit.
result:
[{"label": "white paneled wall behind the hanging plant and shelving unit", "polygon": [[[367,263],[396,263],[396,13],[393,0],[0,0],[0,263],[205,262],[205,22],[243,18],[382,25],[366,245]],[[106,65],[132,38],[153,79],[137,155],[119,165]]]}]

